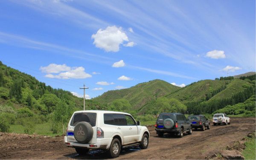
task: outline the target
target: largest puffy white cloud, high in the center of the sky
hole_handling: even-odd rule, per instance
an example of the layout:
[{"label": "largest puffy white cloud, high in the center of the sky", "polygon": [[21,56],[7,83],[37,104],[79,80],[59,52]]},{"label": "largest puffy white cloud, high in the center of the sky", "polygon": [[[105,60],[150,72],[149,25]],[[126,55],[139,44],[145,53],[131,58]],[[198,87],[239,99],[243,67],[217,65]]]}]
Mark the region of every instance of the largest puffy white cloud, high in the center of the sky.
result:
[{"label": "largest puffy white cloud, high in the center of the sky", "polygon": [[[99,29],[96,34],[92,35],[92,38],[94,39],[93,44],[106,52],[118,52],[119,45],[123,44],[124,41],[129,41],[128,36],[122,31],[122,27],[118,28],[116,26]],[[133,45],[134,43],[132,42],[127,47],[132,47]]]}]

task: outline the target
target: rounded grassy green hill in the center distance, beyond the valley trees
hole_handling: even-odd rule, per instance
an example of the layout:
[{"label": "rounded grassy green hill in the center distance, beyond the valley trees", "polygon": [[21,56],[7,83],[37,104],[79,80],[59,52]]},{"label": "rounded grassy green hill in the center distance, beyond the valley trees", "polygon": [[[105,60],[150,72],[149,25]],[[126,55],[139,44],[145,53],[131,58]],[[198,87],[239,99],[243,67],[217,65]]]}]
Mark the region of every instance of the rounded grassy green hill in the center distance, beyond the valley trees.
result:
[{"label": "rounded grassy green hill in the center distance, beyond the valley trees", "polygon": [[168,93],[175,92],[180,87],[169,84],[159,79],[137,84],[134,87],[122,90],[110,90],[101,96],[94,98],[96,102],[110,104],[116,99],[126,99],[132,108],[139,110],[151,100],[165,96]]}]

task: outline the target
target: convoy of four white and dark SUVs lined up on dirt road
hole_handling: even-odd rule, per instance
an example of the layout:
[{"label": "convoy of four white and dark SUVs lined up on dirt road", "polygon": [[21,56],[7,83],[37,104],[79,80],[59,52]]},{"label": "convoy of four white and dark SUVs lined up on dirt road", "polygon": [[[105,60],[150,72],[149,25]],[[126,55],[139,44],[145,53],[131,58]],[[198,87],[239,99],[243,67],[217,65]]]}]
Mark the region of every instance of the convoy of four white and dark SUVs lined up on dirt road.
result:
[{"label": "convoy of four white and dark SUVs lined up on dirt road", "polygon": [[[213,125],[230,124],[224,113],[213,116]],[[159,137],[165,133],[183,137],[192,134],[192,129],[210,129],[210,121],[204,115],[191,115],[186,118],[180,113],[160,113],[155,131]],[[129,113],[115,111],[76,111],[70,118],[65,145],[76,149],[78,154],[87,154],[89,149],[106,150],[112,158],[118,157],[122,148],[139,145],[148,148],[149,131]]]}]

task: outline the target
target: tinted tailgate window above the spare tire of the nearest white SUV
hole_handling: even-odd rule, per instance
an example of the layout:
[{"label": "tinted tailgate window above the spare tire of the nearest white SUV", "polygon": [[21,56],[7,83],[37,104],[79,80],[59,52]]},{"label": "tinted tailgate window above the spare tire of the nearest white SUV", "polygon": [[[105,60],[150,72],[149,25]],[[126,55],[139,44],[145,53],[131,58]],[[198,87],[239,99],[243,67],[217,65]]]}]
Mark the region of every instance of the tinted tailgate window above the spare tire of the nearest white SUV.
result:
[{"label": "tinted tailgate window above the spare tire of the nearest white SUV", "polygon": [[75,126],[78,122],[88,122],[94,127],[96,125],[96,116],[96,113],[75,113],[70,125]]}]

